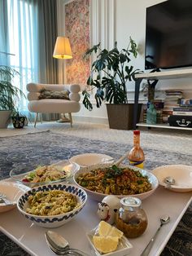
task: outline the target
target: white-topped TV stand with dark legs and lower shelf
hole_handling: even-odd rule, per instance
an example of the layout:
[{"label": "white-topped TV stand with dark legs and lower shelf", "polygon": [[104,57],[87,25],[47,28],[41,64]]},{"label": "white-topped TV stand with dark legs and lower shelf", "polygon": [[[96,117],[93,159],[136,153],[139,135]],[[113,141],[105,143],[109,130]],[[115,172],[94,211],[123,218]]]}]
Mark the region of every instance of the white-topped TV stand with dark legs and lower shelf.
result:
[{"label": "white-topped TV stand with dark legs and lower shelf", "polygon": [[133,129],[136,129],[137,126],[146,126],[146,127],[169,128],[169,129],[177,129],[177,130],[192,130],[192,128],[169,126],[168,124],[148,125],[146,123],[137,123],[137,104],[138,104],[138,98],[139,98],[139,88],[140,88],[142,79],[164,80],[164,79],[176,79],[176,78],[187,78],[187,77],[192,77],[192,68],[136,74],[135,75],[136,82],[135,82],[135,96],[134,96]]}]

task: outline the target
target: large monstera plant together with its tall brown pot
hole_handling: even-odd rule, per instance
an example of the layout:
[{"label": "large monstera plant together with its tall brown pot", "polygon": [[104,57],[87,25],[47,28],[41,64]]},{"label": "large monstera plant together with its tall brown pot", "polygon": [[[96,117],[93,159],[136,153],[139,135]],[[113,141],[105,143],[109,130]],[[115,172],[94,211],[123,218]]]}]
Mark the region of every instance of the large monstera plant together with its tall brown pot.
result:
[{"label": "large monstera plant together with its tall brown pot", "polygon": [[96,88],[94,98],[97,107],[99,108],[103,101],[108,103],[107,114],[110,128],[133,129],[133,104],[128,104],[127,86],[128,82],[134,80],[134,75],[139,72],[129,64],[131,56],[137,58],[137,44],[130,37],[127,49],[121,51],[118,50],[117,43],[111,51],[102,50],[100,45],[98,43],[85,52],[85,57],[93,53],[98,55],[91,67],[87,80],[88,86],[82,92],[83,104],[85,108],[93,109],[89,90]]}]

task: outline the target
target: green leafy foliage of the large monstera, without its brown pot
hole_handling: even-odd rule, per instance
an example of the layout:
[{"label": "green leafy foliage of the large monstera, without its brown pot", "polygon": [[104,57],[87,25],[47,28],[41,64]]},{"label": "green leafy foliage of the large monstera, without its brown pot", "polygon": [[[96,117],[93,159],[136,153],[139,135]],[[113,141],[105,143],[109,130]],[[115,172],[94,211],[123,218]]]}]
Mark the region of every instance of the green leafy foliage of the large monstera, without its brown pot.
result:
[{"label": "green leafy foliage of the large monstera, without its brown pot", "polygon": [[[98,108],[103,101],[112,104],[126,104],[128,103],[128,82],[132,81],[135,73],[138,72],[138,69],[134,70],[133,65],[129,65],[131,57],[137,57],[137,44],[132,38],[129,38],[127,49],[120,51],[117,48],[117,42],[111,51],[102,50],[100,46],[101,43],[98,43],[85,52],[85,57],[98,53],[97,59],[92,64],[87,85],[92,86],[91,90],[96,88],[94,98]],[[89,100],[89,89],[85,88],[82,94],[84,95],[85,108],[92,110],[93,105]]]}]

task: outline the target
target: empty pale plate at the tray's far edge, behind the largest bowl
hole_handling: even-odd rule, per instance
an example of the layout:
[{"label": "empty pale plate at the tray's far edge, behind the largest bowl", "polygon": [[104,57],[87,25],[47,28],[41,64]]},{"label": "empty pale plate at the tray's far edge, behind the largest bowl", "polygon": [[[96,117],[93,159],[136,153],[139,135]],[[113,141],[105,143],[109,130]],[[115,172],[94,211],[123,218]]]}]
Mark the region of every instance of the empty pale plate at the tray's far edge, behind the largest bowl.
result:
[{"label": "empty pale plate at the tray's far edge, behind the largest bowl", "polygon": [[92,166],[99,163],[105,163],[105,162],[113,162],[113,158],[104,154],[98,154],[98,153],[86,153],[81,155],[76,155],[74,157],[71,157],[69,159],[72,163],[76,163],[77,165],[81,167],[85,166]]}]

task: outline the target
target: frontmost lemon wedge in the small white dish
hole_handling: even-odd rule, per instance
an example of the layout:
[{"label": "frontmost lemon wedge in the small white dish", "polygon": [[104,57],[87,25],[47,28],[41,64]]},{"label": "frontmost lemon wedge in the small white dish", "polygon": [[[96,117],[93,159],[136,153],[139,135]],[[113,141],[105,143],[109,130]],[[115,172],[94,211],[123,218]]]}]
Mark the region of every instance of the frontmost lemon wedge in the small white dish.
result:
[{"label": "frontmost lemon wedge in the small white dish", "polygon": [[118,236],[93,236],[94,246],[100,253],[107,254],[116,250]]}]

